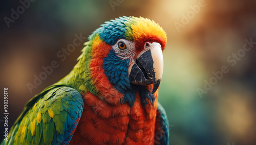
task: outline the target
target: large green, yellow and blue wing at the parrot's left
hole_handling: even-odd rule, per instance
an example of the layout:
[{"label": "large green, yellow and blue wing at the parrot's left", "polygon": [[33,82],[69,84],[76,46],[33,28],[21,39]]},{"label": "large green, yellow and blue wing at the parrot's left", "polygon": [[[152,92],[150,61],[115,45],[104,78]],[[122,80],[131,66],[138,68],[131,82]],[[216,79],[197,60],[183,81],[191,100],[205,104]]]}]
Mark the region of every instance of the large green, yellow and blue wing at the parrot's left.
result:
[{"label": "large green, yellow and blue wing at the parrot's left", "polygon": [[8,144],[69,143],[82,114],[81,94],[69,87],[51,87],[38,95],[15,122]]}]

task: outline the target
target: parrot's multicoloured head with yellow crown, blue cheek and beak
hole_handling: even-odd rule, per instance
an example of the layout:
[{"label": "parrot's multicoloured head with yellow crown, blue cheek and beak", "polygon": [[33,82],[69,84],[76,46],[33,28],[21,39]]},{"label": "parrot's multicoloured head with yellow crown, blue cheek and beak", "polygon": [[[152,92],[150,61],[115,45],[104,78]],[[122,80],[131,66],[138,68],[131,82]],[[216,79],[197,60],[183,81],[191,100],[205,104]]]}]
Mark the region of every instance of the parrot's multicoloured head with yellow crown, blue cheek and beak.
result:
[{"label": "parrot's multicoloured head with yellow crown, blue cheek and beak", "polygon": [[87,88],[97,95],[106,91],[115,94],[111,90],[115,89],[130,103],[135,101],[133,90],[138,87],[154,86],[150,93],[155,93],[163,73],[166,43],[165,31],[150,19],[123,16],[105,22],[89,36],[86,45],[90,47],[83,50],[91,53],[84,53],[90,57],[93,84],[88,82]]}]

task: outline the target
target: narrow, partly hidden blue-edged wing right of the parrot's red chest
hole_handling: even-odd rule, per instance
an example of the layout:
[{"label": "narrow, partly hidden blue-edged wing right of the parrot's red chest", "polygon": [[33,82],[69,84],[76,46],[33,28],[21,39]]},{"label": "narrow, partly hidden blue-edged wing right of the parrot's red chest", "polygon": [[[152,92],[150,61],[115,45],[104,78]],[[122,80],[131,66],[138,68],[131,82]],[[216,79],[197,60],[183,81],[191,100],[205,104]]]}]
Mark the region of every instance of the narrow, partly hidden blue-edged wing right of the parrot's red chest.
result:
[{"label": "narrow, partly hidden blue-edged wing right of the parrot's red chest", "polygon": [[169,144],[169,122],[165,110],[159,102],[157,105],[155,144]]}]

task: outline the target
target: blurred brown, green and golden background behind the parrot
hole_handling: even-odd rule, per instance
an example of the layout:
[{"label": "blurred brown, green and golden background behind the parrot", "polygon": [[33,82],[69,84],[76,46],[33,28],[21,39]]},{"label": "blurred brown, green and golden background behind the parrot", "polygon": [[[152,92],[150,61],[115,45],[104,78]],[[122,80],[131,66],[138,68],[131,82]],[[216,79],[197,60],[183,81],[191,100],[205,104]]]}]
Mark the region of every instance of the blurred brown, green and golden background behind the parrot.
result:
[{"label": "blurred brown, green and golden background behind the parrot", "polygon": [[[142,16],[168,37],[159,102],[169,119],[169,144],[255,144],[256,1],[26,2],[1,1],[0,8],[0,77],[2,91],[9,92],[9,127],[30,98],[72,70],[83,46],[63,61],[57,53],[73,44],[75,34],[88,37],[107,20]],[[58,67],[29,90],[27,84],[54,60]]]}]

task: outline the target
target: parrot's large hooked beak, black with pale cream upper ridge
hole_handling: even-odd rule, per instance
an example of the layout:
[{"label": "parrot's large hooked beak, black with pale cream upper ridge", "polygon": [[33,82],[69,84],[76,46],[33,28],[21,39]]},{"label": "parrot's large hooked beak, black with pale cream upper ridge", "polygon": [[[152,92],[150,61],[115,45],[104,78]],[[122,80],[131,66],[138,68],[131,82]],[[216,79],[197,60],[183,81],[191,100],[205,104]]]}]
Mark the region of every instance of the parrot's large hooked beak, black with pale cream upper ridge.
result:
[{"label": "parrot's large hooked beak, black with pale cream upper ridge", "polygon": [[163,74],[163,53],[159,43],[147,43],[129,67],[129,79],[132,84],[154,84],[152,94],[160,85]]}]

